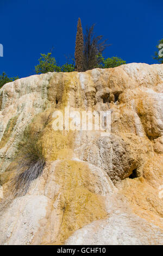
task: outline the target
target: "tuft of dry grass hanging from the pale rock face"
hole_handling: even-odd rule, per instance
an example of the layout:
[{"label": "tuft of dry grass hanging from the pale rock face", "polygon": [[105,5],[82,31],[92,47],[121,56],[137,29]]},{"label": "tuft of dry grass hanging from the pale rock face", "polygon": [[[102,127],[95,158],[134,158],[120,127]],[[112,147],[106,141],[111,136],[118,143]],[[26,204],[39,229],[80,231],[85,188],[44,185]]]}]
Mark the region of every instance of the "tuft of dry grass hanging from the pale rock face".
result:
[{"label": "tuft of dry grass hanging from the pale rock face", "polygon": [[28,192],[31,182],[42,174],[45,166],[42,143],[36,133],[26,130],[18,151],[16,175],[11,181],[15,197]]}]

